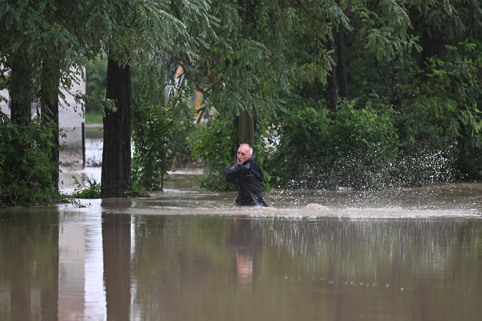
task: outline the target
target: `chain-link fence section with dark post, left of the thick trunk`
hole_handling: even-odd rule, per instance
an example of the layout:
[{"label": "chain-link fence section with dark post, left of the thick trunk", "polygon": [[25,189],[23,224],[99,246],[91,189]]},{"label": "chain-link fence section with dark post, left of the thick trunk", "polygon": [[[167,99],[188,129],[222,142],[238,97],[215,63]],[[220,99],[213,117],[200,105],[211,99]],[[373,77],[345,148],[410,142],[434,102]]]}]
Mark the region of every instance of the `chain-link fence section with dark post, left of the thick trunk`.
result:
[{"label": "chain-link fence section with dark post, left of the thick trunk", "polygon": [[102,145],[104,139],[102,127],[84,126],[62,128],[63,136],[59,142],[65,144],[65,150],[60,153],[64,162],[79,162],[82,166],[102,165]]}]

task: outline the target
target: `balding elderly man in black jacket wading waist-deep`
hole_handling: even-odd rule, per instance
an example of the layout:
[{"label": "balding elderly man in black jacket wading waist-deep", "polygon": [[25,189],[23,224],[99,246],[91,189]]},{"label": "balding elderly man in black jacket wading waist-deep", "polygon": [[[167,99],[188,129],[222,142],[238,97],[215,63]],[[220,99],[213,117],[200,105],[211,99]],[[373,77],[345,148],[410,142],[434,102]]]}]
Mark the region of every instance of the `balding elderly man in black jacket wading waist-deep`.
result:
[{"label": "balding elderly man in black jacket wading waist-deep", "polygon": [[253,148],[250,145],[240,145],[236,163],[224,170],[226,181],[238,185],[238,196],[234,198],[234,205],[268,206],[263,195],[265,175],[254,161]]}]

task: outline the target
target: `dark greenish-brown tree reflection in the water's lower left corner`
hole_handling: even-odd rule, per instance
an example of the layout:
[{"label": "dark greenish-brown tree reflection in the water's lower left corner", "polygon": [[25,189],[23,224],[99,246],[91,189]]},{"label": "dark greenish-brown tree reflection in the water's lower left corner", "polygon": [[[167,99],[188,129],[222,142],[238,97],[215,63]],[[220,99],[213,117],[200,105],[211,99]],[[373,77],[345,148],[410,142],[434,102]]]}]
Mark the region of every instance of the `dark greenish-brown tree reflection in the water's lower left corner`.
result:
[{"label": "dark greenish-brown tree reflection in the water's lower left corner", "polygon": [[0,231],[0,293],[10,293],[10,313],[1,310],[0,319],[58,320],[57,209],[11,209],[2,213]]}]

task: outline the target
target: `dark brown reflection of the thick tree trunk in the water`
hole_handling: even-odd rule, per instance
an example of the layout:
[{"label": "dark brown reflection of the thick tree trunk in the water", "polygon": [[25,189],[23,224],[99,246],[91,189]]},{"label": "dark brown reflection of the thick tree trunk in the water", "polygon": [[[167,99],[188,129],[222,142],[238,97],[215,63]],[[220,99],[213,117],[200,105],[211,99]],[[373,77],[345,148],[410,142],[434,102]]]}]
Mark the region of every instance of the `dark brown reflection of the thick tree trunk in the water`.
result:
[{"label": "dark brown reflection of the thick tree trunk in the water", "polygon": [[[123,200],[123,205],[127,206]],[[102,250],[106,287],[107,320],[129,320],[131,304],[131,215],[110,213],[102,201]]]}]

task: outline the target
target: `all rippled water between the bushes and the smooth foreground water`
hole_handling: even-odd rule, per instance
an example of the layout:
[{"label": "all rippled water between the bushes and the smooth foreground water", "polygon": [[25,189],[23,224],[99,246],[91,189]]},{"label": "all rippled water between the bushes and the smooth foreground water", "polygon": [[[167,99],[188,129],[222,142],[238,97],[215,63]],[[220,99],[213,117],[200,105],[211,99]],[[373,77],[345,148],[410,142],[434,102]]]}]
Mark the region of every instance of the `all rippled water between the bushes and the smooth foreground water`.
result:
[{"label": "all rippled water between the bushes and the smooth foreground water", "polygon": [[[187,175],[179,175],[187,177]],[[179,180],[179,178],[176,178]],[[175,184],[180,185],[181,182]],[[482,183],[445,183],[416,188],[392,188],[381,191],[273,190],[267,193],[270,207],[234,206],[235,192],[207,192],[193,186],[168,186],[152,192],[151,198],[81,200],[112,213],[139,215],[245,215],[287,218],[437,218],[482,217]],[[176,188],[177,187],[177,188]],[[64,207],[65,205],[59,205]]]}]

